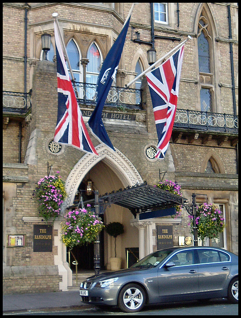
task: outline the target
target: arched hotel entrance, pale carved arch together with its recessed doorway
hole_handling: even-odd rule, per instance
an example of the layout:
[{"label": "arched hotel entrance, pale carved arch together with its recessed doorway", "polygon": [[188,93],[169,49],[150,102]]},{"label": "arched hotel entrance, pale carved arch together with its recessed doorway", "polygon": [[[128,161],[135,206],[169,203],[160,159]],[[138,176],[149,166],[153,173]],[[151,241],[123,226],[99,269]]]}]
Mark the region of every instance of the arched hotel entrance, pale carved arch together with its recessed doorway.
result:
[{"label": "arched hotel entrance, pale carved arch together with its recessed doorway", "polygon": [[[69,194],[66,207],[75,202],[79,187],[84,187],[87,179],[93,182],[93,189],[98,190],[100,195],[117,191],[128,185],[143,183],[139,173],[131,162],[118,150],[113,152],[104,145],[96,147],[99,156],[85,155],[75,165],[66,180],[66,189]],[[91,197],[85,198],[91,199]],[[85,201],[84,199],[84,201]],[[125,233],[117,238],[117,256],[122,258],[122,267],[125,267],[125,247],[138,247],[138,230],[133,229],[130,220],[133,219],[128,209],[117,205],[107,207],[102,215],[104,223],[120,222],[124,225]],[[133,231],[136,232],[133,239]],[[93,270],[93,247],[82,246],[73,249],[80,259],[78,270]],[[109,258],[113,257],[114,239],[109,237],[105,231],[101,233],[101,269],[109,268]],[[93,255],[93,256],[92,256]],[[83,260],[85,258],[85,261]],[[73,268],[74,269],[74,268]]]}]

